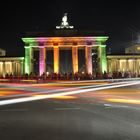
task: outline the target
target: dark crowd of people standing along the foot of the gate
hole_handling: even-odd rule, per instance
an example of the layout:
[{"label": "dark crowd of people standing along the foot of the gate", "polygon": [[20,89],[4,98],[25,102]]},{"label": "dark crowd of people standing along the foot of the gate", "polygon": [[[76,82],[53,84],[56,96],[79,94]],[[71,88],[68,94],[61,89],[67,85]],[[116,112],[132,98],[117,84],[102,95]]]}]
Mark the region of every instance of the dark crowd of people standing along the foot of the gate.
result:
[{"label": "dark crowd of people standing along the foot of the gate", "polygon": [[117,79],[117,78],[136,78],[140,77],[140,74],[131,72],[113,72],[113,73],[94,73],[87,74],[84,72],[79,73],[43,73],[41,76],[35,73],[24,74],[20,76],[15,76],[13,74],[6,74],[4,79],[25,79],[25,80],[93,80],[93,79]]}]

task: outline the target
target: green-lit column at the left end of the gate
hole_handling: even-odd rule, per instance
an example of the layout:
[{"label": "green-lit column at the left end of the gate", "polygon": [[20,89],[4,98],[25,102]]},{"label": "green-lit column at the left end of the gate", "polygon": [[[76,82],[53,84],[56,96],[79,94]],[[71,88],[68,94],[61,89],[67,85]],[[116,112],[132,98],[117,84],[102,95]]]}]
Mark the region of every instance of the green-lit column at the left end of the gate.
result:
[{"label": "green-lit column at the left end of the gate", "polygon": [[32,47],[25,47],[25,73],[32,72]]}]

